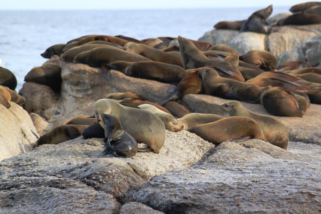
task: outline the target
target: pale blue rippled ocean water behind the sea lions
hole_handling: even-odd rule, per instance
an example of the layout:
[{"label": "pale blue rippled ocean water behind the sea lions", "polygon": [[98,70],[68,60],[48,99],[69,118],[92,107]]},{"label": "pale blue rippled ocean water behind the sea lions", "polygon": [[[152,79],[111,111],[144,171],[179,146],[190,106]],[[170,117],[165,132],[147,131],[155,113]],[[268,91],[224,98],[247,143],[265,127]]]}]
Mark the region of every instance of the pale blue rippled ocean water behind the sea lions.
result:
[{"label": "pale blue rippled ocean water behind the sea lions", "polygon": [[[289,8],[273,8],[271,16],[287,13]],[[2,67],[15,74],[19,91],[24,76],[47,61],[40,54],[52,45],[90,34],[197,40],[217,22],[244,20],[259,9],[0,11],[0,58]]]}]

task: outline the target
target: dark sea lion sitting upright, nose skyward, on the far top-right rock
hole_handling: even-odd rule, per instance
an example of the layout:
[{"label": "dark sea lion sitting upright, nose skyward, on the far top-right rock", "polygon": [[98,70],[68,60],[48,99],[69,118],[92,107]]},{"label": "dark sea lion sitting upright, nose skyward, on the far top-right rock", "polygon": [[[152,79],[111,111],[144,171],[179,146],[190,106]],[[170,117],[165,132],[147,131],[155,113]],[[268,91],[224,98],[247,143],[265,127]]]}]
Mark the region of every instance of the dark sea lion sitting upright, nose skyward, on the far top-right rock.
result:
[{"label": "dark sea lion sitting upright, nose skyward, on the far top-right rock", "polygon": [[248,19],[243,22],[240,32],[253,31],[257,33],[268,34],[272,31],[272,27],[266,22],[266,19],[271,15],[273,11],[272,4],[267,8],[256,11]]}]

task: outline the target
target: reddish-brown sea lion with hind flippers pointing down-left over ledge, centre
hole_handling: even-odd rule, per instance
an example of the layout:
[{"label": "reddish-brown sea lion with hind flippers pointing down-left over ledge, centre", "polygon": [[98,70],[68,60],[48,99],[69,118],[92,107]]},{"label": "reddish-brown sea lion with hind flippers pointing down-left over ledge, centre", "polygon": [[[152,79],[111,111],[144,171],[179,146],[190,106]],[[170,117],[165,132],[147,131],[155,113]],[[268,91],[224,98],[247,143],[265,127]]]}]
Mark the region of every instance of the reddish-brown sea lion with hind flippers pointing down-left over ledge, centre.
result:
[{"label": "reddish-brown sea lion with hind flippers pointing down-left over ledge, centre", "polygon": [[178,85],[170,87],[167,91],[170,93],[158,101],[158,105],[163,105],[168,101],[174,101],[182,98],[186,94],[202,94],[204,92],[202,78],[198,75],[198,70],[183,78]]}]

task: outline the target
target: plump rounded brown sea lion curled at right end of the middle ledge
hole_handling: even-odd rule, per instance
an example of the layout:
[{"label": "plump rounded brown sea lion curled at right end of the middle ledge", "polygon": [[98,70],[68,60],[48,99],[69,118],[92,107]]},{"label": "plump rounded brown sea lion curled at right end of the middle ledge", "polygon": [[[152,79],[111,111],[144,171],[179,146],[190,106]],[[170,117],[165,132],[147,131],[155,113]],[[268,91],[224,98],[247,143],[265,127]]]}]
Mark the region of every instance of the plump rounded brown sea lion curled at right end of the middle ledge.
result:
[{"label": "plump rounded brown sea lion curled at right end of the middle ledge", "polygon": [[302,117],[308,109],[307,100],[305,100],[306,109],[302,111],[299,108],[296,96],[281,87],[273,87],[266,90],[261,94],[260,100],[265,110],[275,116]]}]

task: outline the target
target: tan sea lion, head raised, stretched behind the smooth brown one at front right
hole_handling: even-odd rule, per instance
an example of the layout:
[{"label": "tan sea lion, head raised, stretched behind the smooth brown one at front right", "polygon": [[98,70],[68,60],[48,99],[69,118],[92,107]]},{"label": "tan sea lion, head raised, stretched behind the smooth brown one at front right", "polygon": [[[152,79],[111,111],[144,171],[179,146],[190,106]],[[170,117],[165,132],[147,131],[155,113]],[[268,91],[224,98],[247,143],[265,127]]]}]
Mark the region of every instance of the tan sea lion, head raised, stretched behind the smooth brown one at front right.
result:
[{"label": "tan sea lion, head raised, stretched behind the smooth brown one at front right", "polygon": [[241,103],[237,101],[229,101],[221,105],[221,109],[227,112],[231,116],[249,117],[260,124],[261,129],[268,142],[274,146],[287,149],[289,144],[289,132],[288,129],[278,120],[256,114],[247,110]]}]

